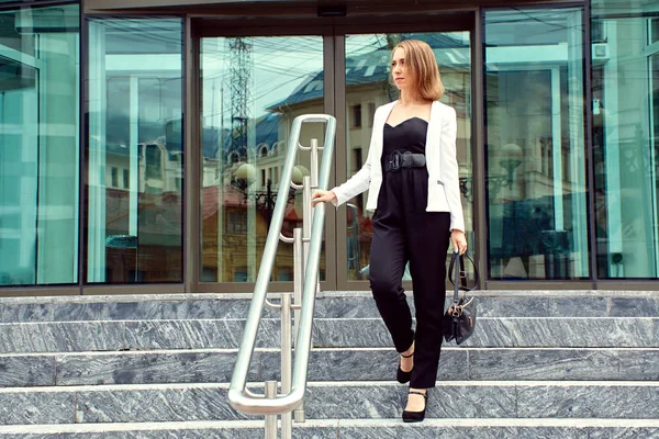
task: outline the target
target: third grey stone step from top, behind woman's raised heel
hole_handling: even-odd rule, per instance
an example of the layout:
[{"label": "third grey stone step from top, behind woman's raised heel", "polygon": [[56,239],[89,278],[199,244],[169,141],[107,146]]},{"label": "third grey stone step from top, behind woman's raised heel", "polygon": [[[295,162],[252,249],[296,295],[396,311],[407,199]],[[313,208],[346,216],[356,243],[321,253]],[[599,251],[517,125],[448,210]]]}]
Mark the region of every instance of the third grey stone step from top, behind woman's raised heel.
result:
[{"label": "third grey stone step from top, behind woman's raised heel", "polygon": [[[2,354],[0,387],[97,384],[227,383],[236,349]],[[280,353],[257,349],[249,380],[280,376]],[[310,381],[388,381],[391,348],[314,349]],[[659,349],[460,348],[442,351],[437,380],[659,380]]]}]

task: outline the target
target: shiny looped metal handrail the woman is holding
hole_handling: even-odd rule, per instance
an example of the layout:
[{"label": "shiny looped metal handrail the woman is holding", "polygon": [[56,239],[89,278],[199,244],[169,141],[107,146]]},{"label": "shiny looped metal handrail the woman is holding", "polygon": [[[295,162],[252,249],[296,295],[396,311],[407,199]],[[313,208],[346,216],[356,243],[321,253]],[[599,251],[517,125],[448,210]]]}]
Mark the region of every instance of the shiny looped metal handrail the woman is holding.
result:
[{"label": "shiny looped metal handrail the woman is holding", "polygon": [[[315,214],[311,215],[311,190],[315,188],[327,188],[330,181],[330,171],[332,168],[332,158],[334,156],[334,136],[336,131],[336,120],[333,116],[325,114],[306,114],[298,116],[293,120],[291,134],[289,138],[289,146],[286,155],[286,162],[281,173],[281,181],[291,181],[293,166],[295,164],[295,156],[298,149],[310,149],[300,145],[300,132],[302,123],[326,123],[325,127],[325,143],[323,145],[323,159],[321,162],[320,178],[316,177],[317,169],[317,142],[312,139],[311,147],[311,178],[304,177],[304,183],[302,187],[291,183],[291,187],[304,189],[304,200],[302,200],[305,216],[312,216],[313,223],[309,230],[309,219],[304,217],[304,228],[308,233],[303,234],[303,230],[295,229],[294,236],[297,236],[295,254],[302,252],[300,258],[295,260],[295,274],[300,278],[295,280],[295,290],[302,293],[301,301],[297,303],[297,306],[291,306],[290,293],[282,294],[280,305],[273,307],[281,308],[281,320],[282,329],[284,329],[284,320],[290,323],[290,309],[299,308],[295,311],[295,362],[293,364],[292,380],[290,379],[290,356],[291,356],[291,334],[290,326],[289,330],[282,330],[282,379],[281,379],[281,395],[277,395],[277,383],[267,382],[264,394],[255,394],[246,389],[247,372],[249,363],[252,362],[252,356],[256,344],[256,336],[258,327],[261,320],[263,308],[265,304],[272,306],[267,301],[268,283],[272,273],[272,266],[275,263],[275,257],[277,255],[277,246],[279,240],[292,241],[290,238],[284,238],[281,235],[281,226],[283,224],[283,216],[286,213],[286,206],[288,203],[289,187],[287,184],[280,184],[279,192],[277,195],[277,203],[275,204],[275,212],[272,213],[270,229],[268,230],[268,238],[264,249],[264,256],[261,264],[256,279],[256,285],[254,289],[254,296],[249,306],[249,313],[247,316],[247,323],[245,325],[245,334],[238,350],[238,356],[235,363],[234,373],[228,387],[228,401],[233,408],[236,410],[247,413],[266,415],[266,438],[277,437],[277,431],[272,432],[272,428],[277,428],[277,415],[282,415],[282,439],[290,437],[290,413],[298,408],[302,404],[304,393],[306,391],[306,372],[309,368],[309,356],[311,351],[311,329],[313,325],[313,311],[315,305],[315,294],[319,282],[319,264],[321,258],[321,246],[323,237],[323,227],[325,222],[325,206],[320,204],[315,207]],[[317,181],[314,181],[316,180]],[[315,187],[315,188],[314,188]],[[302,246],[304,241],[304,246]],[[303,248],[301,251],[300,247]],[[303,284],[300,285],[300,280],[304,280]],[[298,297],[295,297],[298,299]],[[301,305],[301,307],[300,307]],[[288,352],[287,352],[288,350]],[[288,361],[287,361],[288,359]],[[288,362],[288,365],[286,364]],[[288,369],[288,370],[287,370]],[[289,430],[287,432],[287,429]],[[268,430],[270,432],[268,432]]]}]

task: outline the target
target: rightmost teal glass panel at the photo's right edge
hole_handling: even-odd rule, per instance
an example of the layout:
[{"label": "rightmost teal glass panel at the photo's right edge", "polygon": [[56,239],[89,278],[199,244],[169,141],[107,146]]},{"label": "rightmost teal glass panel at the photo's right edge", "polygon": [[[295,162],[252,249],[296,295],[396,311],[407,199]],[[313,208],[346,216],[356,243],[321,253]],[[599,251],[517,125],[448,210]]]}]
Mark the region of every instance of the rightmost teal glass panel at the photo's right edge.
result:
[{"label": "rightmost teal glass panel at the photo's right edge", "polygon": [[592,21],[597,277],[657,278],[659,4],[633,0],[619,11],[599,1]]}]

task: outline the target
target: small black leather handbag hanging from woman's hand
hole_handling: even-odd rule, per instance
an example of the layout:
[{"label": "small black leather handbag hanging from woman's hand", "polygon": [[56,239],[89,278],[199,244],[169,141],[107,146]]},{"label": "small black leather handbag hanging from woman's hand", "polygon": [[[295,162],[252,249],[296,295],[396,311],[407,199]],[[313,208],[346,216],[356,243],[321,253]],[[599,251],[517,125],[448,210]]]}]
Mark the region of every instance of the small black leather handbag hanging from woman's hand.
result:
[{"label": "small black leather handbag hanging from woman's hand", "polygon": [[[465,257],[473,264],[476,282],[471,288],[467,286]],[[457,267],[458,263],[459,269]],[[473,329],[476,328],[476,299],[469,297],[467,294],[462,294],[460,297],[460,291],[468,293],[473,291],[478,285],[478,268],[469,254],[466,252],[463,256],[460,256],[457,251],[454,251],[448,268],[448,279],[454,285],[454,301],[444,315],[444,338],[446,341],[456,340],[456,344],[460,345],[473,334]]]}]

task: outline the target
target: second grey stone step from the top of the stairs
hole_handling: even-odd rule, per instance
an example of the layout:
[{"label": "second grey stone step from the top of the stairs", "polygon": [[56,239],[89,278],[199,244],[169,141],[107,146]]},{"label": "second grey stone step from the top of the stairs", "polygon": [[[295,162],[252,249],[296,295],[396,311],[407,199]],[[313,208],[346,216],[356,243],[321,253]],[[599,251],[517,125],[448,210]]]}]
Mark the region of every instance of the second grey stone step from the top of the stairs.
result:
[{"label": "second grey stone step from the top of the stairs", "polygon": [[[280,346],[280,320],[261,320],[258,347]],[[659,317],[479,317],[473,347],[657,348]],[[89,352],[228,349],[239,346],[244,319],[99,320],[0,324],[0,352]],[[390,347],[378,318],[315,318],[313,346]]]}]

